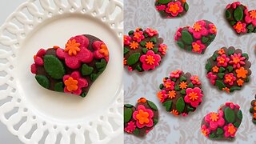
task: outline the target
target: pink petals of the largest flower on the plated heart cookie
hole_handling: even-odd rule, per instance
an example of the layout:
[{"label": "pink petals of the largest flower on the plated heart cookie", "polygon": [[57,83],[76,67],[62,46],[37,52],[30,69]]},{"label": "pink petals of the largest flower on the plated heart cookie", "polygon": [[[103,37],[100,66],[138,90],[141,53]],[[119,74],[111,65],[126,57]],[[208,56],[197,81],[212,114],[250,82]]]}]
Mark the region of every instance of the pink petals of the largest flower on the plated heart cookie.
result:
[{"label": "pink petals of the largest flower on the plated heart cookie", "polygon": [[78,69],[81,66],[81,62],[89,63],[93,60],[94,54],[87,49],[89,46],[89,39],[83,35],[78,35],[70,40],[75,39],[76,42],[80,43],[80,51],[78,51],[77,55],[69,55],[68,51],[64,51],[62,49],[57,49],[56,54],[58,58],[65,59],[66,66],[70,67],[71,69]]}]

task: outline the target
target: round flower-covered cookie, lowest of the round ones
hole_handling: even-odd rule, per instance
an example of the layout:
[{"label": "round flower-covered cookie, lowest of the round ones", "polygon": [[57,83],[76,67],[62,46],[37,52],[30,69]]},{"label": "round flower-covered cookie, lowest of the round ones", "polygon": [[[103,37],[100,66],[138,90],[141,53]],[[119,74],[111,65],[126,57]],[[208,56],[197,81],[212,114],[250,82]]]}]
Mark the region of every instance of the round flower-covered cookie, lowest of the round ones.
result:
[{"label": "round flower-covered cookie, lowest of the round ones", "polygon": [[190,111],[194,112],[202,102],[202,86],[197,75],[176,70],[169,77],[163,78],[159,87],[161,91],[157,96],[162,106],[174,115],[186,116]]}]

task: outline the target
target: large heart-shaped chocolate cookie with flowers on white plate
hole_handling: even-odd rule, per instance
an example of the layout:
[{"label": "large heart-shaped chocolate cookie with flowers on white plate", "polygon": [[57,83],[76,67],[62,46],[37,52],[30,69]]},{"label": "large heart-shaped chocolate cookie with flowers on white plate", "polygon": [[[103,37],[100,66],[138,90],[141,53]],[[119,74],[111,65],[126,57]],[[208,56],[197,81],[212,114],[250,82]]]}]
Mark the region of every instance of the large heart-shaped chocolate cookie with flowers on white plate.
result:
[{"label": "large heart-shaped chocolate cookie with flowers on white plate", "polygon": [[86,97],[90,86],[105,70],[109,51],[104,42],[87,34],[70,38],[65,47],[39,50],[31,72],[46,89]]}]

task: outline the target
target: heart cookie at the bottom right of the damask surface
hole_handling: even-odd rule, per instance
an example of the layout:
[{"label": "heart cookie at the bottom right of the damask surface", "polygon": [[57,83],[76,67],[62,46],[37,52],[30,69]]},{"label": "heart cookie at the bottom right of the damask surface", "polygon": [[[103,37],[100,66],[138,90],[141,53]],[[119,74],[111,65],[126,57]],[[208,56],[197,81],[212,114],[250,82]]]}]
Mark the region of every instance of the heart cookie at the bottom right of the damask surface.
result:
[{"label": "heart cookie at the bottom right of the damask surface", "polygon": [[240,106],[226,102],[218,113],[210,112],[202,119],[201,131],[206,138],[213,140],[234,140],[242,122]]}]

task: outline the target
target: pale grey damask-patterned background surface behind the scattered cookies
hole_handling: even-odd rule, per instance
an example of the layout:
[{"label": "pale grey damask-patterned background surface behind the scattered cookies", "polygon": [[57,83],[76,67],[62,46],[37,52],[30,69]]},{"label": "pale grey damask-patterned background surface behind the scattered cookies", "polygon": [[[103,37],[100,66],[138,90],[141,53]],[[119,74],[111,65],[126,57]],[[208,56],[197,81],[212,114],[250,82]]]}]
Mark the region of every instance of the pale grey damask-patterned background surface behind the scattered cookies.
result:
[{"label": "pale grey damask-patterned background surface behind the scattered cookies", "polygon": [[[159,122],[145,138],[136,138],[125,134],[125,143],[218,143],[210,141],[201,134],[202,118],[209,112],[217,112],[218,107],[225,102],[238,103],[243,112],[242,124],[236,135],[234,143],[255,143],[256,126],[251,122],[249,113],[250,101],[256,94],[256,64],[255,45],[256,35],[246,34],[238,36],[231,30],[224,18],[225,8],[233,0],[187,0],[190,10],[182,18],[162,19],[154,7],[155,0],[124,0],[125,6],[125,33],[137,27],[151,27],[158,30],[164,43],[168,45],[166,57],[162,64],[154,71],[138,74],[125,70],[125,102],[135,105],[138,98],[146,97],[155,102],[159,110]],[[242,0],[249,6],[249,10],[256,9],[256,1]],[[174,34],[179,26],[193,26],[194,22],[206,19],[218,28],[214,42],[208,47],[205,54],[191,54],[181,50],[174,43]],[[252,62],[251,80],[240,91],[226,94],[210,86],[206,79],[206,59],[210,58],[215,50],[222,46],[234,46],[249,54]],[[180,69],[191,74],[198,74],[202,80],[204,98],[198,109],[187,117],[174,117],[166,112],[156,96],[162,78],[169,75],[170,71]],[[223,142],[222,142],[223,143]],[[228,143],[228,142],[226,142]]]}]

